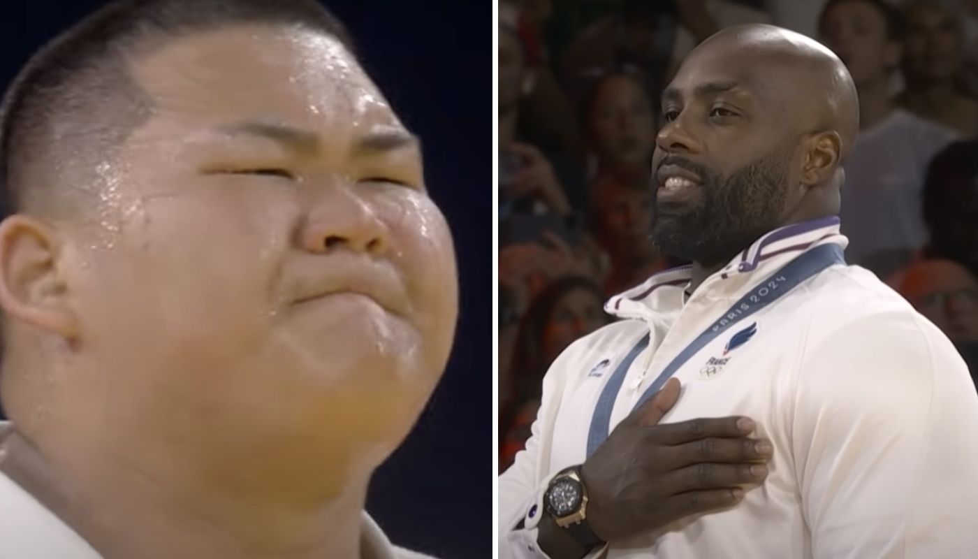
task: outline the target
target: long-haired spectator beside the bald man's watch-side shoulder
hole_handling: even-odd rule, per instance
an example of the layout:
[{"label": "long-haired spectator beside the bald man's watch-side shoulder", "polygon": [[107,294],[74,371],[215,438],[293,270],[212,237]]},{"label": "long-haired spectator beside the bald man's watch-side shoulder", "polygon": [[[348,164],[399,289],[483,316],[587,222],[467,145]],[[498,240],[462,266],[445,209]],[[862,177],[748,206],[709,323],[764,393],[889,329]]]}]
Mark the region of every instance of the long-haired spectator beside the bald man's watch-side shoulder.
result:
[{"label": "long-haired spectator beside the bald man's watch-side shoulder", "polygon": [[[602,304],[604,298],[598,286],[588,278],[564,276],[550,284],[537,296],[523,317],[516,337],[511,367],[500,360],[500,376],[509,376],[511,394],[503,402],[500,413],[501,468],[506,469],[512,456],[522,448],[529,436],[527,425],[517,425],[515,419],[536,417],[540,405],[540,390],[544,374],[561,351],[575,340],[598,330],[609,322]],[[525,437],[524,437],[525,435]],[[502,471],[502,470],[501,470]]]}]

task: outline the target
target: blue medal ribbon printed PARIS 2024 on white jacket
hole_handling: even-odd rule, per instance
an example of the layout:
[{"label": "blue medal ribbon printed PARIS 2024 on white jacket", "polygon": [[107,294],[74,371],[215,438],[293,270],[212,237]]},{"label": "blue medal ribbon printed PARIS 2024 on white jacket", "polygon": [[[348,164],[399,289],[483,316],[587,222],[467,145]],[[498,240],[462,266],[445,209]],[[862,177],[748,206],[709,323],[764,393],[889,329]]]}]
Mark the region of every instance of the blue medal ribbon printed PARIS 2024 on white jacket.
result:
[{"label": "blue medal ribbon printed PARIS 2024 on white jacket", "polygon": [[[704,330],[699,336],[693,340],[689,346],[679,352],[672,361],[669,362],[659,373],[659,376],[652,382],[651,385],[645,389],[642,397],[636,402],[635,407],[632,409],[634,412],[638,409],[648,398],[655,395],[662,389],[666,381],[669,380],[676,371],[680,369],[683,365],[689,361],[693,355],[703,349],[707,344],[713,342],[720,335],[726,332],[728,329],[733,327],[734,324],[743,320],[744,318],[754,314],[755,312],[766,308],[768,305],[777,302],[780,298],[787,295],[795,287],[808,280],[809,278],[815,276],[823,269],[834,265],[834,264],[844,264],[845,257],[842,254],[842,248],[834,243],[820,245],[815,247],[805,254],[798,256],[797,258],[788,262],[784,267],[779,269],[777,272],[772,274],[766,280],[754,287],[747,295],[740,298],[739,301],[733,303],[730,309],[727,310],[723,315],[717,318],[709,328]],[[614,408],[614,402],[618,398],[618,393],[621,391],[621,385],[625,381],[625,377],[628,374],[628,369],[632,366],[632,363],[648,346],[649,336],[645,336],[636,344],[629,352],[625,355],[625,358],[615,369],[614,374],[608,379],[604,389],[598,398],[598,403],[595,405],[594,415],[591,417],[591,428],[588,430],[588,457],[595,453],[595,450],[604,443],[607,439],[610,431],[611,422],[611,410]]]}]

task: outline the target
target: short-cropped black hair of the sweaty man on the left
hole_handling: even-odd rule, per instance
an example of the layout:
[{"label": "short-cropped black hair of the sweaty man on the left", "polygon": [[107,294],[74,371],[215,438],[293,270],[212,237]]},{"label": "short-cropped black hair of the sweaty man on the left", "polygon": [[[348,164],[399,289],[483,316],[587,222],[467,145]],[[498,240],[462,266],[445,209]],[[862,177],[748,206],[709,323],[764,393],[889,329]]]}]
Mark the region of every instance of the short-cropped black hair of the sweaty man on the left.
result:
[{"label": "short-cropped black hair of the sweaty man on the left", "polygon": [[22,180],[30,165],[63,164],[82,149],[105,158],[152,114],[127,56],[152,39],[247,23],[317,30],[354,53],[345,27],[316,0],[111,2],[42,47],[8,88],[0,109],[0,217],[31,206],[28,196],[44,198],[36,183],[46,181]]}]

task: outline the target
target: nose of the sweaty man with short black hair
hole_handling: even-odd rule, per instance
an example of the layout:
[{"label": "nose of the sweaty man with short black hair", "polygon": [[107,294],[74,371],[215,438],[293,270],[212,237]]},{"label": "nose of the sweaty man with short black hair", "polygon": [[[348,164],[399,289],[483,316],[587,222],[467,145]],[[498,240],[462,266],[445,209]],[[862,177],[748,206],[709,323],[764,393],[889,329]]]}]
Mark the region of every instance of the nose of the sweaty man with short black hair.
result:
[{"label": "nose of the sweaty man with short black hair", "polygon": [[389,246],[389,231],[377,210],[349,187],[317,193],[299,232],[301,248],[325,254],[347,250],[379,256]]}]

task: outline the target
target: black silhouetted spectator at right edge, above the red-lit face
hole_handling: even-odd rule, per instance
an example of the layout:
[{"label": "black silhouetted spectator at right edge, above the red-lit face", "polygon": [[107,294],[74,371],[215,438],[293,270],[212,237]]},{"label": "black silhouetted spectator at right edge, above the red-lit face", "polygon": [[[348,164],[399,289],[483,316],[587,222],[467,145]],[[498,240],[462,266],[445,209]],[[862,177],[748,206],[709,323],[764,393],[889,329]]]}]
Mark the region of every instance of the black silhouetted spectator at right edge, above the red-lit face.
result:
[{"label": "black silhouetted spectator at right edge, above the red-lit face", "polygon": [[962,263],[978,277],[978,140],[956,142],[934,157],[923,189],[930,239],[924,255]]}]

